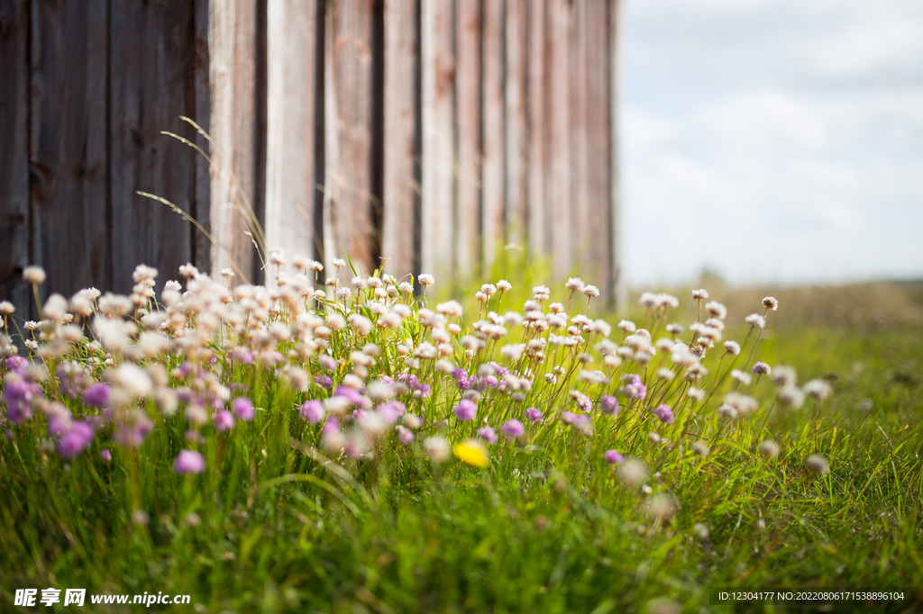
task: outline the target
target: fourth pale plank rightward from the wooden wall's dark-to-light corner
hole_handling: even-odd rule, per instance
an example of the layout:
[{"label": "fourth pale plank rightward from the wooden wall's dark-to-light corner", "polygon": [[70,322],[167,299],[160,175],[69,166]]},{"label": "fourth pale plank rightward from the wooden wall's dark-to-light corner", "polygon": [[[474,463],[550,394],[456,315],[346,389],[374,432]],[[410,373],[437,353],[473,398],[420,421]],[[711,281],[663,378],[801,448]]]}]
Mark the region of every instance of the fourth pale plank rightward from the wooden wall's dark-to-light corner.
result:
[{"label": "fourth pale plank rightward from the wooden wall's dark-to-light corner", "polygon": [[384,194],[381,256],[390,272],[414,272],[419,232],[416,87],[420,69],[419,13],[415,2],[385,0]]}]

